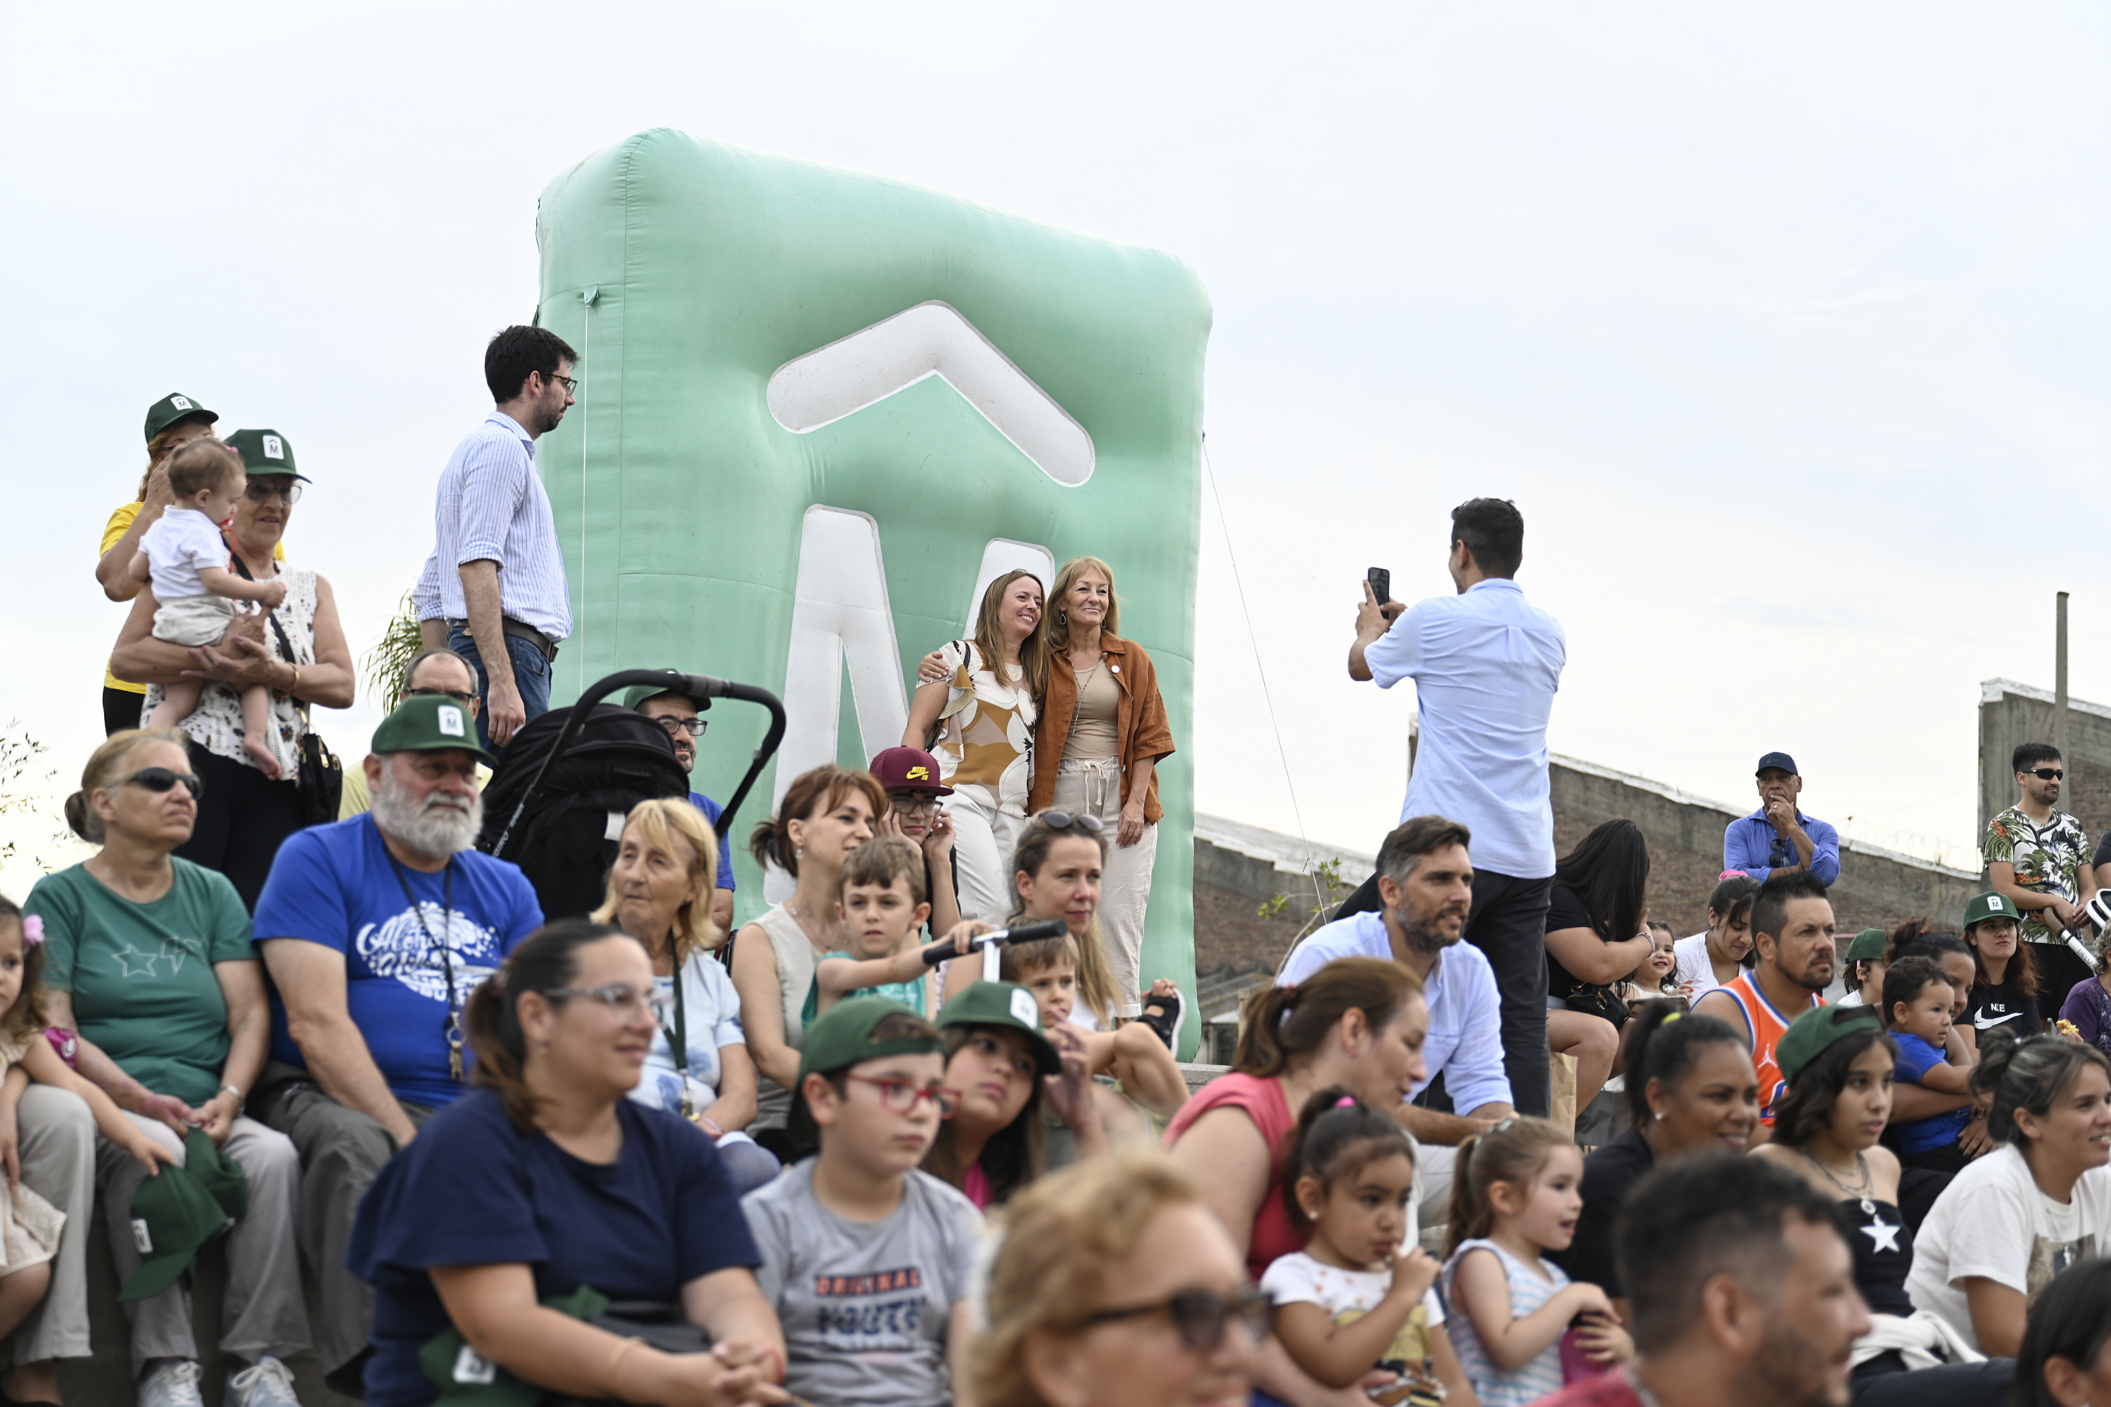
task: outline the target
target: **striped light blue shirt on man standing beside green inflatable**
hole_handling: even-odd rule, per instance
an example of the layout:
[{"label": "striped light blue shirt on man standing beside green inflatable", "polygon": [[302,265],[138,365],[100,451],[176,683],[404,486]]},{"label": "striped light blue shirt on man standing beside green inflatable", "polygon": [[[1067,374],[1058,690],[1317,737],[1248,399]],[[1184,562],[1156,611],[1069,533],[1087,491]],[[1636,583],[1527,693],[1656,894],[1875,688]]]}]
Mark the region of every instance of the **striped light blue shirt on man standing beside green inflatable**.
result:
[{"label": "striped light blue shirt on man standing beside green inflatable", "polygon": [[412,605],[420,620],[467,620],[460,567],[498,563],[498,608],[553,641],[572,633],[572,597],[549,492],[534,470],[534,441],[517,420],[492,411],[439,473],[433,496],[433,555]]}]

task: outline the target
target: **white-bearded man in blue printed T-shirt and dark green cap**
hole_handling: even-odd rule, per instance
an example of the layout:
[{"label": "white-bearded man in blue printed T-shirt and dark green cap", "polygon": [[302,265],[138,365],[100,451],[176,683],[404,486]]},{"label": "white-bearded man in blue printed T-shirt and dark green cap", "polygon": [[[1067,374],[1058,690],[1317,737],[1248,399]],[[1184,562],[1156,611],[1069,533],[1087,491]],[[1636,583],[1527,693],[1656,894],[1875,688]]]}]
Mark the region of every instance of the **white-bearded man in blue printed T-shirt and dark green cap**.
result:
[{"label": "white-bearded man in blue printed T-shirt and dark green cap", "polygon": [[361,1394],[374,1291],[344,1268],[367,1183],[467,1080],[469,994],[543,924],[534,888],[471,850],[477,762],[460,702],[403,700],[367,757],[374,810],[296,831],[258,899],[272,1048],[251,1114],[293,1139],[300,1249],[321,1289],[331,1388]]}]

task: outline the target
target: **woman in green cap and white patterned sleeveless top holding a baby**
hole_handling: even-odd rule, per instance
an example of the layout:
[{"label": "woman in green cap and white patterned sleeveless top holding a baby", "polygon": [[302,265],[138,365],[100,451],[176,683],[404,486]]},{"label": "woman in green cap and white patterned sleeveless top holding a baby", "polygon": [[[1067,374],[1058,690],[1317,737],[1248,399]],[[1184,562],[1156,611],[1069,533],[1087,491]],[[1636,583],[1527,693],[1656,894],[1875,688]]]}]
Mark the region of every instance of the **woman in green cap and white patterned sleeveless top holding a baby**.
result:
[{"label": "woman in green cap and white patterned sleeveless top holding a baby", "polygon": [[[148,688],[146,707],[160,702],[165,686],[203,679],[196,711],[182,721],[192,743],[192,768],[207,783],[198,825],[177,852],[217,869],[234,882],[247,909],[255,909],[279,844],[302,827],[300,738],[308,707],[353,707],[353,652],[344,643],[338,603],[312,567],[283,567],[272,559],[306,477],[293,468],[293,447],[277,430],[236,430],[228,447],[243,456],[249,483],[234,504],[234,574],[281,580],[285,601],[268,612],[262,641],[234,635],[226,645],[186,650],[154,639],[160,603],[146,589],[133,601],[110,669]],[[251,683],[272,690],[268,743],[279,762],[270,780],[243,751],[241,692]]]}]

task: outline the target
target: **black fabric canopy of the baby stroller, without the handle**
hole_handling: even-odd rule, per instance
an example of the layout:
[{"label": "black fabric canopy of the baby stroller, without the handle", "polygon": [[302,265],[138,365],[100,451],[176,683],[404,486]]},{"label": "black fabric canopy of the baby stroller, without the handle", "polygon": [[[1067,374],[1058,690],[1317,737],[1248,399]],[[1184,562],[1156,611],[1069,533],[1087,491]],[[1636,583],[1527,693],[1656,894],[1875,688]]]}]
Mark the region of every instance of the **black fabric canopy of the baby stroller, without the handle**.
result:
[{"label": "black fabric canopy of the baby stroller, without the handle", "polygon": [[[688,772],[673,755],[673,740],[652,719],[595,705],[564,757],[551,766],[519,821],[513,821],[528,785],[557,745],[572,709],[551,709],[498,753],[498,770],[483,789],[483,833],[477,850],[513,861],[528,875],[543,918],[578,918],[602,907],[608,867],[623,842],[623,818],[652,797],[688,797]],[[511,825],[511,833],[507,827]]]}]

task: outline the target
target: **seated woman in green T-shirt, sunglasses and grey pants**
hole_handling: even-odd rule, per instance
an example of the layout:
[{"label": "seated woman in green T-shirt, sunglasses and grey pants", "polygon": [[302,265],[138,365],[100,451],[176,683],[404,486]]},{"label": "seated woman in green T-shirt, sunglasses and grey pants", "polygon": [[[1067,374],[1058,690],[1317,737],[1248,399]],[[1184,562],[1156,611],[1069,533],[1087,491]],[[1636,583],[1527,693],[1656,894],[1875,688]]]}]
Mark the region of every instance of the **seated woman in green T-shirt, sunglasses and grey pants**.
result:
[{"label": "seated woman in green T-shirt, sunglasses and grey pants", "polygon": [[[247,1209],[228,1232],[228,1323],[220,1342],[247,1361],[230,1380],[230,1399],[279,1405],[293,1401],[285,1361],[310,1344],[298,1253],[300,1156],[289,1137],[243,1114],[264,1072],[270,1006],[234,886],[173,854],[198,814],[190,766],[186,738],[173,728],[106,738],[89,757],[80,791],[65,802],[68,825],[101,848],[40,880],[23,911],[42,920],[44,1017],[84,1038],[74,1057],[80,1076],[160,1145],[163,1160],[203,1177],[203,1131],[217,1158],[241,1169]],[[95,1181],[116,1274],[129,1283],[144,1259],[133,1196],[146,1186],[146,1167],[106,1137]],[[76,1209],[65,1211],[74,1234]],[[61,1247],[61,1266],[63,1255]],[[63,1270],[55,1270],[55,1293],[61,1278]],[[182,1403],[196,1394],[201,1367],[186,1287],[167,1285],[129,1308],[139,1401]],[[84,1318],[80,1331],[87,1335]]]}]

